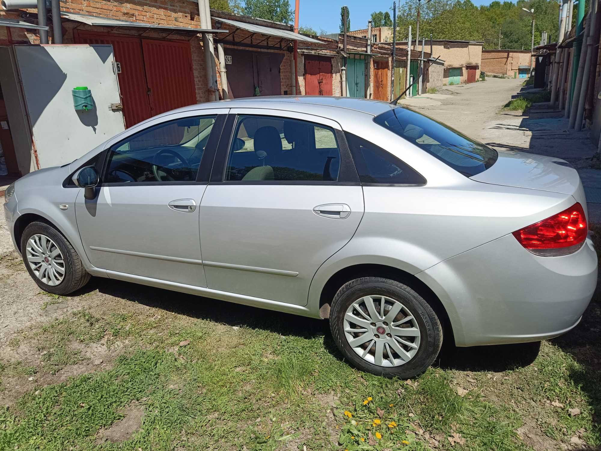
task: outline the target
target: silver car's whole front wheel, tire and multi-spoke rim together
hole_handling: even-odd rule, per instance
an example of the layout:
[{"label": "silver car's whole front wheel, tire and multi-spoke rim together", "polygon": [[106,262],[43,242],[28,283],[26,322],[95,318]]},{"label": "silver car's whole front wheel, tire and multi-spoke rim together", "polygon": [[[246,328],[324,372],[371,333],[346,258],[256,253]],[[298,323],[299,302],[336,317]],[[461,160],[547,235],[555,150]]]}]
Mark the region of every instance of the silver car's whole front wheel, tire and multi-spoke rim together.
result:
[{"label": "silver car's whole front wheel, tire and multi-spoke rim together", "polygon": [[26,226],[21,237],[21,253],[29,275],[49,293],[69,294],[90,280],[71,243],[45,222]]}]

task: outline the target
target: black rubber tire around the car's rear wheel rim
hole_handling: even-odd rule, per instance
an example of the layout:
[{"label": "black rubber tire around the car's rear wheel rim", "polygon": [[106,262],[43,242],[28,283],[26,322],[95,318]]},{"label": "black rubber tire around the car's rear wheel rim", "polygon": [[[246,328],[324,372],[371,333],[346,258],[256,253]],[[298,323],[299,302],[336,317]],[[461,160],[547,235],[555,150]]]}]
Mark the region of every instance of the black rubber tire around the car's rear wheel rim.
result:
[{"label": "black rubber tire around the car's rear wheel rim", "polygon": [[[344,316],[352,303],[362,297],[382,295],[406,307],[419,327],[419,347],[408,362],[398,366],[379,366],[362,359],[350,346],[344,332]],[[409,286],[382,277],[362,277],[345,283],[334,296],[330,311],[330,330],[338,349],[353,366],[371,374],[408,379],[426,371],[442,346],[442,325],[429,303]],[[365,345],[371,348],[372,345]],[[394,353],[393,353],[394,355]]]}]

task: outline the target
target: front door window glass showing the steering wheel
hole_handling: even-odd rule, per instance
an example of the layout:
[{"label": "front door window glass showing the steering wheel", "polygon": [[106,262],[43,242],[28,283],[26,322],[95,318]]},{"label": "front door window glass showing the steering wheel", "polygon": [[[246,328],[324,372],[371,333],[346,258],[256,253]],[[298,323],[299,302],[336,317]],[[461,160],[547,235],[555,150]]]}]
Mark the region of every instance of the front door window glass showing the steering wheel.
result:
[{"label": "front door window glass showing the steering wheel", "polygon": [[179,118],[115,144],[105,183],[194,181],[216,116]]}]

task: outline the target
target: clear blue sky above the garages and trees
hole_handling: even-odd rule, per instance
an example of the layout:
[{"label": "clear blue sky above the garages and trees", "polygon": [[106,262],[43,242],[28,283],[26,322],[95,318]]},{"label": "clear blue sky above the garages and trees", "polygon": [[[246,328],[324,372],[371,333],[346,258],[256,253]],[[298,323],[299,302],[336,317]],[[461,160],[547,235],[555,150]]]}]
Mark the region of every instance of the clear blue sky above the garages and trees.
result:
[{"label": "clear blue sky above the garages and trees", "polygon": [[[472,0],[475,5],[489,4],[486,0]],[[367,28],[367,21],[373,11],[386,11],[392,8],[392,0],[301,0],[299,24],[311,26],[317,32],[320,28],[328,33],[337,33],[340,25],[340,8],[347,5],[350,11],[352,29]],[[397,0],[397,8],[400,1]],[[290,0],[294,8],[294,0]],[[392,11],[391,14],[392,16]]]}]

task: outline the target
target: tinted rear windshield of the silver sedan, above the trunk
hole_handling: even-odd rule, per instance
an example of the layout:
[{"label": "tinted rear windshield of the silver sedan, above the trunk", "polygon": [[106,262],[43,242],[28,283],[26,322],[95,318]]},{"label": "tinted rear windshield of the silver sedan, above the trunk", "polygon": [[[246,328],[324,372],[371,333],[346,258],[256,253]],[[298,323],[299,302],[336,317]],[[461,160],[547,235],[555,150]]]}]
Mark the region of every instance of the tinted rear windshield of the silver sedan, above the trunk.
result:
[{"label": "tinted rear windshield of the silver sedan, above the trunk", "polygon": [[389,110],[376,116],[374,122],[421,147],[466,177],[486,171],[495,164],[498,156],[490,147],[407,108]]}]

